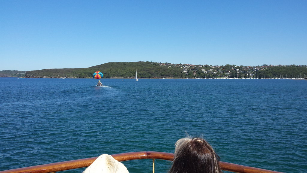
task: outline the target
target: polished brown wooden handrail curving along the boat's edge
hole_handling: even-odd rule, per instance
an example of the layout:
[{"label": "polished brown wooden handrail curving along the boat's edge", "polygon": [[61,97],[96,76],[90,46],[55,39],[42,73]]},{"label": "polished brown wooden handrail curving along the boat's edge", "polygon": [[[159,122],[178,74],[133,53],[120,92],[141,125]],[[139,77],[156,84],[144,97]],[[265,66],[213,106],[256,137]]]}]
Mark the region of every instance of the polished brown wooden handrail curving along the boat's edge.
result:
[{"label": "polished brown wooden handrail curving along the boat's edge", "polygon": [[[140,151],[140,152],[114,154],[112,156],[116,160],[122,162],[127,160],[136,160],[136,159],[173,160],[174,154],[165,153],[165,152],[156,152],[156,151]],[[70,169],[88,167],[96,159],[97,157],[92,157],[92,158],[71,160],[71,161],[58,162],[58,163],[49,163],[44,165],[0,171],[0,173],[49,173],[49,172],[65,171]],[[238,173],[282,173],[282,172],[270,171],[255,167],[247,167],[227,162],[220,162],[220,166],[222,170],[238,172]]]}]

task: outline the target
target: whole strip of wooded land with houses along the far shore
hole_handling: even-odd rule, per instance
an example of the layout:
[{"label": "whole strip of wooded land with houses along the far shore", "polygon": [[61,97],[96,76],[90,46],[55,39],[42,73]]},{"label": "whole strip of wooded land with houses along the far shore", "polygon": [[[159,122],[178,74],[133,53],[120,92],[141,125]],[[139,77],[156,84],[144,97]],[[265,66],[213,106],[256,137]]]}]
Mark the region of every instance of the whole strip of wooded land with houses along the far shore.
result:
[{"label": "whole strip of wooded land with houses along the far shore", "polygon": [[136,71],[138,78],[307,78],[306,65],[212,66],[143,61],[108,62],[88,68],[3,71],[0,71],[1,77],[22,77],[24,74],[26,78],[91,78],[95,71],[101,71],[103,78],[134,78]]}]

